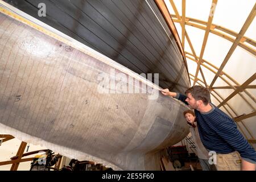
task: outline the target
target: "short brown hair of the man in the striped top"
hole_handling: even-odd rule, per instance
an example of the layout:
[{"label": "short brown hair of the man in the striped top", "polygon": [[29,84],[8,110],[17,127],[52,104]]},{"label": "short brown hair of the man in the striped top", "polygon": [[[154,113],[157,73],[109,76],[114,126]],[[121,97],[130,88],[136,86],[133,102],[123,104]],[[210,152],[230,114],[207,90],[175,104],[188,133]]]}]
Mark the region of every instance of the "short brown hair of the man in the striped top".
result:
[{"label": "short brown hair of the man in the striped top", "polygon": [[187,89],[185,94],[191,93],[195,100],[203,101],[204,105],[207,105],[210,101],[210,92],[204,86],[195,85]]}]

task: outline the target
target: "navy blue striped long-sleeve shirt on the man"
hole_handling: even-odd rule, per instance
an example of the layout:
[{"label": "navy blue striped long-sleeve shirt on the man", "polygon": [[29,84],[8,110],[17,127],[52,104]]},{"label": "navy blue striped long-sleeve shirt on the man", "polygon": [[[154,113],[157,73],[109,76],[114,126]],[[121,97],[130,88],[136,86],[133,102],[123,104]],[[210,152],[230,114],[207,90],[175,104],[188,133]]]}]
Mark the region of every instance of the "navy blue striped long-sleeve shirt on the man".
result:
[{"label": "navy blue striped long-sleeve shirt on the man", "polygon": [[[177,93],[175,98],[188,105],[185,101],[187,96]],[[213,104],[210,105],[213,108],[207,113],[195,109],[200,139],[205,148],[220,154],[238,151],[242,159],[255,164],[256,152],[237,129],[233,119]]]}]

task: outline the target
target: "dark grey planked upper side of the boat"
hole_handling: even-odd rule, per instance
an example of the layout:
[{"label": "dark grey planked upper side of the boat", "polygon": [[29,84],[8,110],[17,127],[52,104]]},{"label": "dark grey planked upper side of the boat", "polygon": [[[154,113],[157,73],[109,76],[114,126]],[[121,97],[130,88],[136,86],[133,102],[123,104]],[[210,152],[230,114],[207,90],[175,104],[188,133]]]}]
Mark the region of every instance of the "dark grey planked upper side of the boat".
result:
[{"label": "dark grey planked upper side of the boat", "polygon": [[[159,86],[184,93],[185,61],[154,0],[4,0],[137,73],[159,73]],[[38,4],[46,4],[46,17]],[[168,38],[165,30],[170,36]]]}]

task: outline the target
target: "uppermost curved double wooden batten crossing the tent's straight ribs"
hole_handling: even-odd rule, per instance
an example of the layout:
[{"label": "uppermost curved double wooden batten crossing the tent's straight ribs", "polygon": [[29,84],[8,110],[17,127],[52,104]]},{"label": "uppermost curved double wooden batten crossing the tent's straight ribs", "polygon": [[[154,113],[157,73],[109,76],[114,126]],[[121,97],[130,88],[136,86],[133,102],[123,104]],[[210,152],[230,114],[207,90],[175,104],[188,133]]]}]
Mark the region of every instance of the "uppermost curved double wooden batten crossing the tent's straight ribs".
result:
[{"label": "uppermost curved double wooden batten crossing the tent's straight ribs", "polygon": [[[171,16],[172,16],[172,19],[174,20],[174,22],[180,23],[180,20],[177,18],[176,15],[171,15]],[[202,20],[189,18],[189,17],[186,17],[185,20],[186,20],[185,25],[200,28],[201,30],[206,30],[206,27],[201,26],[200,24],[205,25],[205,23],[207,23],[207,22],[204,22]],[[193,22],[196,22],[196,23],[193,23]],[[217,36],[220,36],[221,38],[224,38],[226,40],[229,40],[232,43],[236,40],[236,39],[233,38],[233,36],[237,37],[238,34],[236,32],[234,32],[232,30],[229,30],[228,28],[221,27],[217,24],[212,24],[212,26],[213,26],[213,28],[212,27],[210,28],[210,33],[212,33],[214,35],[217,35]],[[218,29],[218,31],[216,29]],[[222,33],[221,31],[225,32],[226,34],[229,34],[231,36],[226,35],[226,34]],[[243,36],[242,40],[245,40],[246,43],[250,44],[251,46],[256,47],[256,42],[254,40],[252,40],[250,38],[247,38],[246,36]],[[238,43],[238,46],[240,46],[241,48],[250,52],[251,54],[256,55],[256,50],[254,48],[250,47],[250,46],[247,46],[244,42],[240,41],[240,43]]]}]

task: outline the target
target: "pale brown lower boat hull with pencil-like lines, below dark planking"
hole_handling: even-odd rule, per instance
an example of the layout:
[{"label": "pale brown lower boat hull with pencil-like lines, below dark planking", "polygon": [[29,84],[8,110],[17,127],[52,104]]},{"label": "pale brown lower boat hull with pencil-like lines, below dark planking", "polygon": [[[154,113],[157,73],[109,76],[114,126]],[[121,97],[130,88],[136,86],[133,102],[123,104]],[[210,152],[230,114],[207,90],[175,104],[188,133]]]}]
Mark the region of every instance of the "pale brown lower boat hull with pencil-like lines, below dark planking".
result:
[{"label": "pale brown lower boat hull with pencil-like lines, below dark planking", "polygon": [[[96,56],[4,14],[0,34],[2,132],[70,158],[129,170],[158,169],[146,165],[149,156],[188,134],[182,115],[188,107],[174,98],[99,92],[102,74],[115,85],[120,80],[113,70],[130,75]],[[133,79],[128,86],[139,76]]]}]

